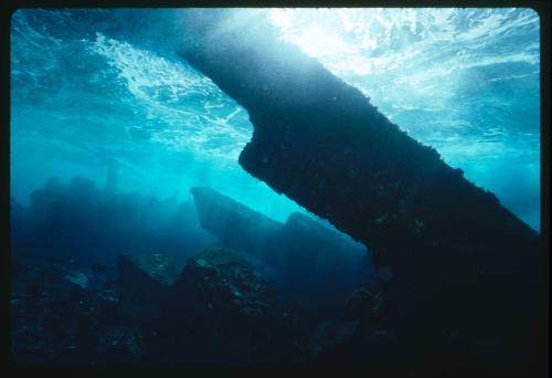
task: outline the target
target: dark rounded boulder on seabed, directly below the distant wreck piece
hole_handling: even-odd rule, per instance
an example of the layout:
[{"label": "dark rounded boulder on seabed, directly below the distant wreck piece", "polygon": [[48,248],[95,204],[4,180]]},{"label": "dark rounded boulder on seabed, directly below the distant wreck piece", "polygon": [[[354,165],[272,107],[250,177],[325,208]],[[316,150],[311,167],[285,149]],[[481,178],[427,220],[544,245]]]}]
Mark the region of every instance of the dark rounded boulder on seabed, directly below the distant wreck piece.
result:
[{"label": "dark rounded boulder on seabed, directly below the distant wreck piece", "polygon": [[179,359],[243,365],[294,359],[291,325],[277,293],[225,249],[190,259],[166,305]]}]

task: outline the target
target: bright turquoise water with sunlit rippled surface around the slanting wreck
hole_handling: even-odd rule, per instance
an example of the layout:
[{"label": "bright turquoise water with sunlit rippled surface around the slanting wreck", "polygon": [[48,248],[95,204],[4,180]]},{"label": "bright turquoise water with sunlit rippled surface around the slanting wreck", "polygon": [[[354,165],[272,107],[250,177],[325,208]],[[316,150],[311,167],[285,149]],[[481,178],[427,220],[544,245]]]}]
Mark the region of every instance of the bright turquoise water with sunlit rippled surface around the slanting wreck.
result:
[{"label": "bright turquoise water with sunlit rippled surface around the slanting wreck", "polygon": [[[305,211],[237,164],[247,113],[177,55],[185,10],[20,10],[11,192],[49,177],[190,199],[212,187],[276,220]],[[529,9],[244,10],[540,228],[539,18]],[[331,151],[329,151],[331,153]]]}]

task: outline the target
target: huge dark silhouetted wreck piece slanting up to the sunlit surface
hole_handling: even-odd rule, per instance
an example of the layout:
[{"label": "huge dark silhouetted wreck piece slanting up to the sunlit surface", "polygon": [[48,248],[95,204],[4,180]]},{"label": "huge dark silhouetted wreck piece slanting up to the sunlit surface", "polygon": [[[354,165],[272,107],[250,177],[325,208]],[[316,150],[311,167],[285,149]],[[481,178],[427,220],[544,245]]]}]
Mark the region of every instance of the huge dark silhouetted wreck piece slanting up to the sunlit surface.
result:
[{"label": "huge dark silhouetted wreck piece slanting up to the sunlit surface", "polygon": [[385,317],[403,356],[542,356],[540,237],[495,195],[391,123],[359,90],[232,10],[182,21],[181,56],[250,114],[240,164],[330,220],[389,267]]}]

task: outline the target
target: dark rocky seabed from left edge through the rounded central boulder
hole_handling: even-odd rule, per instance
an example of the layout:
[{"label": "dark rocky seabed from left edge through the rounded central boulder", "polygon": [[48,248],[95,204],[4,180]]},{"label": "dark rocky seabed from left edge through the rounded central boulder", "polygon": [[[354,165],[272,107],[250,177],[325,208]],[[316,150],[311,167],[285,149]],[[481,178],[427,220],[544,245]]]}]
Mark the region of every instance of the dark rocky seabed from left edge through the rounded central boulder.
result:
[{"label": "dark rocky seabed from left edge through the rounded central boulder", "polygon": [[[121,255],[117,283],[91,288],[63,263],[12,261],[11,356],[21,365],[245,365],[294,363],[300,332],[264,276],[235,253],[190,259],[156,280]],[[89,272],[88,272],[89,273]]]}]

